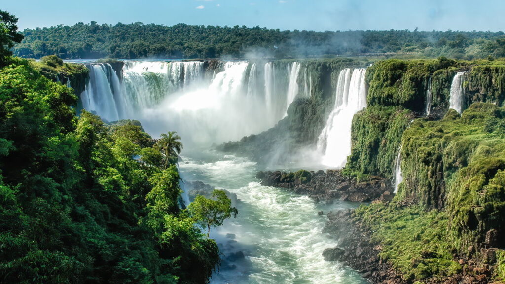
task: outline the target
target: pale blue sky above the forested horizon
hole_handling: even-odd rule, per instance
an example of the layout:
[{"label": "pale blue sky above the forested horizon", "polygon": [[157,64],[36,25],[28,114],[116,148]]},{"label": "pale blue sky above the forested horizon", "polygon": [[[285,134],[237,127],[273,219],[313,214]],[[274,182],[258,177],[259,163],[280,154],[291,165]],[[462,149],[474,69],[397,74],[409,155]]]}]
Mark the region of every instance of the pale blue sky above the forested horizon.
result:
[{"label": "pale blue sky above the forested horizon", "polygon": [[[4,3],[5,2],[5,3]],[[77,22],[279,29],[505,29],[502,0],[0,0],[20,29]]]}]

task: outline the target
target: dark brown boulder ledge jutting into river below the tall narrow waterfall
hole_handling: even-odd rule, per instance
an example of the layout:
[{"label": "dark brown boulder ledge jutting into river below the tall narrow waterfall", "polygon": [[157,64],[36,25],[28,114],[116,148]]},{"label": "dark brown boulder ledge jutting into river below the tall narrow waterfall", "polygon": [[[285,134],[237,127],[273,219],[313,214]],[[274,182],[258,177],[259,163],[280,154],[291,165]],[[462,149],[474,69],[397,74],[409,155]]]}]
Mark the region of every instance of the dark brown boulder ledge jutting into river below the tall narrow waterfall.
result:
[{"label": "dark brown boulder ledge jutting into river below the tall narrow waterfall", "polygon": [[340,170],[261,171],[256,177],[263,185],[287,188],[316,200],[371,202],[381,197],[382,201],[389,202],[393,197],[390,185],[384,179],[373,177],[367,182],[356,182],[342,175]]}]

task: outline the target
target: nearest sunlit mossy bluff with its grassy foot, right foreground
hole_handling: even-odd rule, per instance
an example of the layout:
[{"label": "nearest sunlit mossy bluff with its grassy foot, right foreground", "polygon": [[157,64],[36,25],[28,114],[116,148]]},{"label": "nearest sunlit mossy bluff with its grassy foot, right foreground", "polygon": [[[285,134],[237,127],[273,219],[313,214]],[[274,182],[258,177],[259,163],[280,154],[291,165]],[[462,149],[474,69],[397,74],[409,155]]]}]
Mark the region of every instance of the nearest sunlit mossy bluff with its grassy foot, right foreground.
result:
[{"label": "nearest sunlit mossy bluff with its grassy foot, right foreground", "polygon": [[[460,267],[453,253],[484,258],[478,248],[486,232],[505,231],[504,118],[505,109],[474,103],[461,116],[450,110],[442,120],[417,119],[403,132],[395,202],[362,206],[355,216],[404,278],[450,275]],[[503,251],[497,260],[503,277]]]}]

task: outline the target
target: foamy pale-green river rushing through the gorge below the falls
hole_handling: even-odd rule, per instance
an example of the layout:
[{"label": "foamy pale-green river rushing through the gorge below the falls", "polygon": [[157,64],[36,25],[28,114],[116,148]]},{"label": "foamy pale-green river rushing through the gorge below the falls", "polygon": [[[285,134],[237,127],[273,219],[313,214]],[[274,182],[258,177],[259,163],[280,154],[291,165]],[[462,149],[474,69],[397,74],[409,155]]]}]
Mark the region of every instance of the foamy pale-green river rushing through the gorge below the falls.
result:
[{"label": "foamy pale-green river rushing through the gorge below the falls", "polygon": [[[211,283],[365,283],[359,274],[338,262],[322,257],[326,248],[337,243],[321,233],[326,216],[319,210],[355,207],[337,202],[316,204],[306,196],[261,185],[255,178],[256,163],[234,156],[213,157],[206,161],[183,158],[181,172],[188,179],[235,193],[240,200],[236,219],[213,229],[212,238],[221,244],[224,258],[243,252],[245,259],[225,262]],[[235,239],[226,238],[227,233]],[[235,242],[236,241],[236,242]],[[231,265],[235,268],[230,269]]]}]

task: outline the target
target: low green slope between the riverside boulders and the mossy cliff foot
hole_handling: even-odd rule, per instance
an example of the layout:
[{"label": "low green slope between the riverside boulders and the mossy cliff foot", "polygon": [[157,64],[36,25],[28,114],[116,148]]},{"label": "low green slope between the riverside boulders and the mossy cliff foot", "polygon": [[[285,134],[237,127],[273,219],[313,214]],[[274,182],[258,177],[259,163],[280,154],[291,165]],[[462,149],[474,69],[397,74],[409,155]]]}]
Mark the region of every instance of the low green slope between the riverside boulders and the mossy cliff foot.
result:
[{"label": "low green slope between the riverside boulders and the mossy cliff foot", "polygon": [[355,216],[373,232],[372,241],[380,243],[379,257],[406,280],[451,275],[461,269],[452,259],[444,212],[392,203],[363,205]]}]

